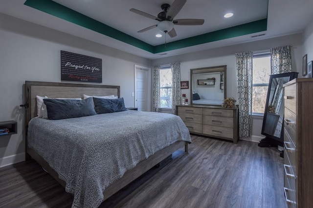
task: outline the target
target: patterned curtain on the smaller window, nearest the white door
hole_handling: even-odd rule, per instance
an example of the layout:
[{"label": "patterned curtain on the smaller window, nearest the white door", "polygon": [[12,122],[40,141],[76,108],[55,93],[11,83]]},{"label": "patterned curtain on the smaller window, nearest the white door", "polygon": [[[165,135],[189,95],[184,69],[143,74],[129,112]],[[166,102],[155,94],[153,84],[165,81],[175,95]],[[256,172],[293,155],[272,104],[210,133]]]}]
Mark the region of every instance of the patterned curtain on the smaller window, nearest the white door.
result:
[{"label": "patterned curtain on the smaller window, nearest the white door", "polygon": [[160,112],[160,66],[155,66],[153,70],[153,109],[154,112]]}]

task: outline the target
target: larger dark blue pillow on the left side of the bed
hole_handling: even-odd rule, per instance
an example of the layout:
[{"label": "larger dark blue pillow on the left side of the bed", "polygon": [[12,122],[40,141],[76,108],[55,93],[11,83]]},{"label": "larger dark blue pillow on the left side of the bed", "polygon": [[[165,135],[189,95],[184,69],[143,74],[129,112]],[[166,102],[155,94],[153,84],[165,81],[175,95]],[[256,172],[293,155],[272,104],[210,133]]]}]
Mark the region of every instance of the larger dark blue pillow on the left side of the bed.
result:
[{"label": "larger dark blue pillow on the left side of the bed", "polygon": [[93,108],[92,98],[76,99],[44,99],[47,106],[48,119],[59,120],[97,114]]}]

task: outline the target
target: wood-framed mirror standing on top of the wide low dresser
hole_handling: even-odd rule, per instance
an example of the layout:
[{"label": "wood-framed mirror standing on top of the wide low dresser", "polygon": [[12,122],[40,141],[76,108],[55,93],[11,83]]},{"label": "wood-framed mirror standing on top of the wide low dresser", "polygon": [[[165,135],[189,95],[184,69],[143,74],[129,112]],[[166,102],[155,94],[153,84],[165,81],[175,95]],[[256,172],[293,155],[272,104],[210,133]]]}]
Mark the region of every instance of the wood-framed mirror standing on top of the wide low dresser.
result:
[{"label": "wood-framed mirror standing on top of the wide low dresser", "polygon": [[[190,69],[191,105],[221,106],[223,104],[227,89],[226,68],[227,66],[223,65]],[[212,78],[215,79],[214,82]]]}]

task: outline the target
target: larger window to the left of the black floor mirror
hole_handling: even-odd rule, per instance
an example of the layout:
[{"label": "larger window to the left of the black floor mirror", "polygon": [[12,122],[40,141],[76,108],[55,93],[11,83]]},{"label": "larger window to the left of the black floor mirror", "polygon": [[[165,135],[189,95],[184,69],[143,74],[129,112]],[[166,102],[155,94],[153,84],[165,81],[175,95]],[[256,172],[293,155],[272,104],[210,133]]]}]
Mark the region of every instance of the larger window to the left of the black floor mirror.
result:
[{"label": "larger window to the left of the black floor mirror", "polygon": [[270,54],[253,56],[252,113],[264,113],[270,76]]}]

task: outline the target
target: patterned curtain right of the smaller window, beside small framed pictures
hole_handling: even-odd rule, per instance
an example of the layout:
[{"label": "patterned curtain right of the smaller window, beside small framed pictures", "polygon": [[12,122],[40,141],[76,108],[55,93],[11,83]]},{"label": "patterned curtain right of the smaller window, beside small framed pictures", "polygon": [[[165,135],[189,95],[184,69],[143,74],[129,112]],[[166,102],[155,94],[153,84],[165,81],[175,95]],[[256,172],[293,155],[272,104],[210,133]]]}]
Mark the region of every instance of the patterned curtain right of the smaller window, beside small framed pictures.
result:
[{"label": "patterned curtain right of the smaller window, beside small framed pictures", "polygon": [[176,106],[180,105],[181,101],[181,89],[180,89],[180,63],[172,63],[172,114],[176,114]]}]

